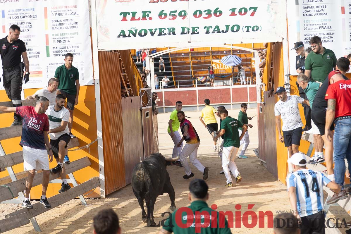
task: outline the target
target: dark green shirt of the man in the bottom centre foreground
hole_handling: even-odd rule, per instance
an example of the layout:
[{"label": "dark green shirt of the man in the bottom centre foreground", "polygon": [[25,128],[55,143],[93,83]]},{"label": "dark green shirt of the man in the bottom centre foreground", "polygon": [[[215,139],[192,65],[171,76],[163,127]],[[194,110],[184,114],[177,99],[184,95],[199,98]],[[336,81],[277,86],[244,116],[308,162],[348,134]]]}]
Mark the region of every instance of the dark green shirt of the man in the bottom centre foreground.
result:
[{"label": "dark green shirt of the man in the bottom centre foreground", "polygon": [[[188,213],[186,213],[186,210],[188,210]],[[162,224],[163,229],[167,230],[168,232],[173,232],[174,234],[194,234],[195,232],[195,220],[194,215],[195,211],[199,211],[203,215],[203,218],[201,218],[201,223],[204,223],[205,217],[207,220],[212,219],[212,212],[217,213],[217,227],[212,227],[212,222],[209,222],[208,227],[201,227],[199,229],[198,233],[201,234],[228,234],[231,233],[230,228],[228,227],[228,222],[227,219],[220,215],[220,213],[216,210],[211,209],[208,207],[207,203],[204,201],[193,201],[191,202],[190,206],[188,207],[182,207],[177,210],[174,210],[172,215]],[[177,212],[182,212],[181,215],[178,217],[178,220],[176,219],[176,214]],[[208,214],[208,216],[207,216]],[[190,217],[188,217],[190,215]],[[221,216],[221,219],[220,219]],[[179,219],[180,218],[180,219]],[[215,217],[213,217],[214,219]],[[188,220],[189,219],[189,220]],[[172,220],[172,224],[170,225],[170,220]],[[221,221],[221,222],[220,222]],[[223,223],[224,221],[224,223]],[[181,223],[178,223],[181,222]],[[187,222],[189,222],[187,224]],[[191,225],[190,225],[191,223]],[[180,227],[179,225],[184,225],[184,227]],[[190,227],[186,227],[185,225],[188,225]]]}]

